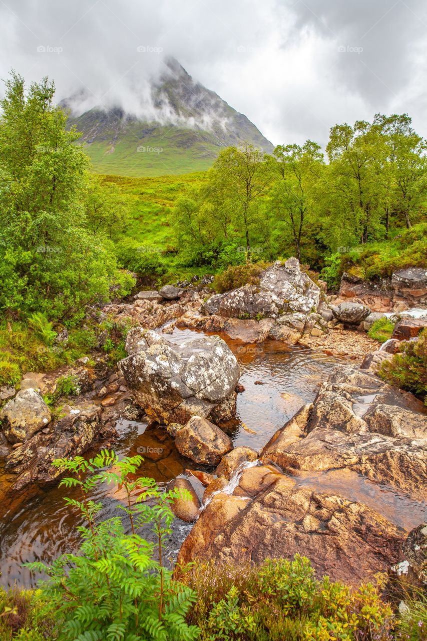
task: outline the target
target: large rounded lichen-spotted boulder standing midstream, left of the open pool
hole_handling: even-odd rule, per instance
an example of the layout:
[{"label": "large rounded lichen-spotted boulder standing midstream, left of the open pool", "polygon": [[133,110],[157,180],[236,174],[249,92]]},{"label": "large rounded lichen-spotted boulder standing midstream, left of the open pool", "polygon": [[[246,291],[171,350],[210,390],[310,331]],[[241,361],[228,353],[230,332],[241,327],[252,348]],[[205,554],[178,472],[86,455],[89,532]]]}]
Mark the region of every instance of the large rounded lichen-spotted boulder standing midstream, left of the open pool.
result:
[{"label": "large rounded lichen-spotted boulder standing midstream, left of the open pool", "polygon": [[[185,424],[192,416],[208,417],[218,407],[229,417],[235,409],[240,368],[221,338],[173,345],[154,331],[136,328],[128,334],[126,349],[131,355],[119,363],[126,385],[158,422]],[[215,420],[220,415],[217,412]]]}]

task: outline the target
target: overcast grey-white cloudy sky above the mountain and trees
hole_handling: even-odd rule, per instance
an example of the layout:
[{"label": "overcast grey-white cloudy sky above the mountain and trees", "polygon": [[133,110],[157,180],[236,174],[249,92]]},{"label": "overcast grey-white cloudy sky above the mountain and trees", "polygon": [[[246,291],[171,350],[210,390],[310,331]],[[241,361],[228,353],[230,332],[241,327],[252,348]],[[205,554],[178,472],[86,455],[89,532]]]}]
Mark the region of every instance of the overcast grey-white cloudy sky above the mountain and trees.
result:
[{"label": "overcast grey-white cloudy sky above the mountain and trees", "polygon": [[274,144],[376,112],[427,137],[425,0],[0,0],[1,78],[49,75],[58,100],[131,110],[165,55]]}]

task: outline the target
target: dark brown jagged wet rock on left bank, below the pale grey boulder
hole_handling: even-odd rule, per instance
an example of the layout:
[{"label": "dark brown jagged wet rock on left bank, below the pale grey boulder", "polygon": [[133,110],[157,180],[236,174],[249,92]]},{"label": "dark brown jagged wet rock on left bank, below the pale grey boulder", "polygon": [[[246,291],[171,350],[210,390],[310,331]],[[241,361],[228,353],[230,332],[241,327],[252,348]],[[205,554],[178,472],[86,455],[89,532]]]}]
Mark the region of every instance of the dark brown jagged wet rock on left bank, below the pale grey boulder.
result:
[{"label": "dark brown jagged wet rock on left bank, below the pale grey boulder", "polygon": [[[26,390],[28,394],[31,390]],[[77,413],[78,410],[78,413]],[[30,483],[51,483],[61,474],[56,458],[73,458],[94,445],[101,433],[101,408],[79,406],[58,420],[49,434],[38,432],[6,458],[6,470],[18,474],[10,488],[15,492]]]}]

